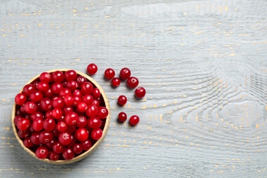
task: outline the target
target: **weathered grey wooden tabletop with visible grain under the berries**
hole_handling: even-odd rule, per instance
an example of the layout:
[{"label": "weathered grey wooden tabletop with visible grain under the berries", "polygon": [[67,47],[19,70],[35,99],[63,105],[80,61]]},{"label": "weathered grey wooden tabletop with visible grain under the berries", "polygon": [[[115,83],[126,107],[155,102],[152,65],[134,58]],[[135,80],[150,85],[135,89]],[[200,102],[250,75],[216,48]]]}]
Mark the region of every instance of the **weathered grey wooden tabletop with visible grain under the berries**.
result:
[{"label": "weathered grey wooden tabletop with visible grain under the berries", "polygon": [[[267,1],[0,2],[0,177],[267,177]],[[15,94],[42,71],[94,62],[112,107],[90,157],[42,163],[19,146]],[[137,101],[105,68],[129,67]],[[129,101],[116,105],[119,94]],[[140,124],[116,121],[138,114]]]}]

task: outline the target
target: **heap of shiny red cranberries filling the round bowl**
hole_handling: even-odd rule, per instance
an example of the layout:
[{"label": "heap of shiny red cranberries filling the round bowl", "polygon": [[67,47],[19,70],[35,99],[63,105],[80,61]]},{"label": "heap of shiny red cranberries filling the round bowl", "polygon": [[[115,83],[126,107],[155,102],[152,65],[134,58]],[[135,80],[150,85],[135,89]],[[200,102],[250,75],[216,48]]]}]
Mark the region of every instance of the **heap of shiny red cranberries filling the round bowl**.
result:
[{"label": "heap of shiny red cranberries filling the round bowl", "polygon": [[18,137],[39,159],[72,160],[88,151],[109,114],[99,88],[74,70],[41,73],[14,100]]}]

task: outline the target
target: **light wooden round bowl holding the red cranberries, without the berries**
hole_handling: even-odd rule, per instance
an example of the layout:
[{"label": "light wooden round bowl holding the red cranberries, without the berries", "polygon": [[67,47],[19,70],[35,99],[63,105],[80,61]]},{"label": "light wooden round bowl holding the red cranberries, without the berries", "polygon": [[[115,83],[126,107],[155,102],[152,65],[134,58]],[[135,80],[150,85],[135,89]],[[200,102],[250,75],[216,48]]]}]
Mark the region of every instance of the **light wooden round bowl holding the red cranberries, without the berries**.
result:
[{"label": "light wooden round bowl holding the red cranberries, without the berries", "polygon": [[[47,72],[48,73],[53,73],[54,71],[62,71],[62,72],[64,72],[64,71],[68,71],[68,70],[70,70],[70,69],[60,68],[60,69],[55,69],[55,70],[51,70],[51,71],[47,71]],[[33,151],[31,151],[31,149],[28,149],[27,147],[25,147],[24,144],[23,144],[23,140],[21,140],[21,138],[18,137],[17,129],[16,129],[16,126],[14,125],[14,117],[15,117],[15,114],[16,114],[16,103],[14,103],[14,107],[13,107],[13,110],[12,110],[12,128],[13,128],[13,131],[14,131],[14,134],[15,134],[15,137],[16,137],[16,140],[18,140],[18,143],[21,144],[21,147],[23,147],[23,149],[25,149],[25,151],[27,151],[27,153],[29,153],[29,155],[35,157],[38,160],[41,160],[42,162],[47,162],[49,164],[70,164],[70,163],[77,162],[79,160],[84,159],[85,157],[87,157],[88,155],[90,155],[95,149],[97,149],[97,147],[99,146],[99,144],[101,144],[101,142],[104,140],[104,138],[105,138],[105,136],[107,134],[107,130],[110,127],[110,103],[107,100],[107,96],[105,95],[104,90],[97,83],[97,81],[95,81],[94,79],[92,79],[88,75],[86,75],[84,73],[81,73],[79,71],[76,71],[76,72],[77,72],[77,75],[82,75],[82,76],[86,77],[86,79],[88,79],[92,83],[92,85],[94,87],[99,88],[99,90],[101,92],[101,97],[103,98],[103,103],[105,104],[104,106],[107,108],[107,110],[109,112],[107,118],[105,118],[105,126],[103,128],[103,135],[102,135],[102,137],[99,140],[97,140],[97,142],[95,142],[92,145],[92,147],[88,151],[82,153],[81,155],[78,155],[77,157],[74,157],[72,160],[58,160],[58,161],[53,161],[53,160],[49,160],[49,159],[43,159],[43,160],[38,159],[38,157],[36,157],[35,153]],[[36,75],[36,77],[34,77],[31,80],[29,80],[27,82],[27,84],[31,84],[31,82],[34,81],[34,80],[36,80],[39,76],[40,75]],[[23,91],[23,88],[21,89],[20,92],[22,92],[22,91]]]}]

